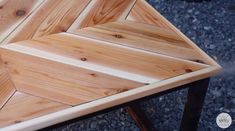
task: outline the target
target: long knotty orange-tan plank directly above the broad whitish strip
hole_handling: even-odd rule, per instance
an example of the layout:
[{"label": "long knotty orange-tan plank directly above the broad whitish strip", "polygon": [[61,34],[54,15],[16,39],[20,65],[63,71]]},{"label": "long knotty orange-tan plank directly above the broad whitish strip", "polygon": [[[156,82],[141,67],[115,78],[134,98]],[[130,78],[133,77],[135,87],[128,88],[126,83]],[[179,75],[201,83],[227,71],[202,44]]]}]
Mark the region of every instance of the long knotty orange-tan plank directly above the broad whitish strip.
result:
[{"label": "long knotty orange-tan plank directly above the broad whitish strip", "polygon": [[[79,64],[93,65],[90,68],[91,70],[94,70],[94,66],[99,65],[153,78],[155,81],[207,67],[203,64],[68,33],[45,36],[32,41],[18,42],[9,46],[14,48],[14,46],[19,45],[66,56],[81,61]],[[109,71],[106,70],[103,73],[105,72],[108,73]],[[114,72],[110,73],[116,75]],[[146,81],[145,83],[152,82],[154,80],[150,80],[150,82]]]}]

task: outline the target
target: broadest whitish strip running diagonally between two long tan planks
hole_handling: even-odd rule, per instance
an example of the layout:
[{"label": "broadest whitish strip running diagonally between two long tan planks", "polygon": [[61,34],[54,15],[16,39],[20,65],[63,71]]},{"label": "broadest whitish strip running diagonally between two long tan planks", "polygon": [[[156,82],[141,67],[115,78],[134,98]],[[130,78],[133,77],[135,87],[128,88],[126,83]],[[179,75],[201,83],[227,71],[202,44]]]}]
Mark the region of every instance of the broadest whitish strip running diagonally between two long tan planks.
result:
[{"label": "broadest whitish strip running diagonally between two long tan planks", "polygon": [[[11,46],[11,44],[5,46],[4,48],[8,49],[8,50],[11,50],[11,51],[16,51],[16,52],[19,52],[19,53],[23,53],[23,54],[26,54],[26,55],[35,56],[35,57],[47,59],[47,60],[50,60],[50,61],[55,61],[55,62],[59,62],[59,63],[62,63],[62,64],[71,65],[71,66],[78,67],[78,68],[93,70],[93,71],[97,71],[97,72],[100,72],[100,73],[108,74],[108,75],[111,75],[111,76],[115,76],[115,77],[119,77],[119,78],[123,78],[123,79],[127,79],[127,80],[132,80],[132,81],[136,81],[136,82],[152,83],[152,82],[158,81],[155,78],[151,78],[151,77],[147,77],[147,76],[141,76],[141,75],[134,74],[134,73],[128,73],[128,72],[121,71],[121,70],[118,70],[118,69],[111,69],[111,68],[108,68],[108,67],[99,66],[99,65],[95,65],[95,64],[93,64],[93,65],[92,64],[86,64],[86,63],[77,61],[77,60],[72,59],[72,58],[67,58],[67,57],[64,57],[64,56],[56,55],[56,54],[45,52],[45,51],[39,51],[39,50],[33,49],[33,48],[26,48],[26,47],[17,45],[17,47],[20,48],[20,50],[19,50],[19,49],[14,49],[16,47],[16,45],[11,46],[11,47],[10,46]],[[30,52],[30,50],[31,50],[31,52]],[[37,55],[36,52],[38,52],[38,54],[41,54],[41,55]],[[43,57],[42,54],[44,54],[45,56]],[[61,61],[60,59],[63,59],[63,60]],[[91,66],[96,66],[96,68],[91,68]],[[116,72],[116,73],[114,73],[114,72]],[[113,75],[113,74],[116,74],[116,75]]]}]

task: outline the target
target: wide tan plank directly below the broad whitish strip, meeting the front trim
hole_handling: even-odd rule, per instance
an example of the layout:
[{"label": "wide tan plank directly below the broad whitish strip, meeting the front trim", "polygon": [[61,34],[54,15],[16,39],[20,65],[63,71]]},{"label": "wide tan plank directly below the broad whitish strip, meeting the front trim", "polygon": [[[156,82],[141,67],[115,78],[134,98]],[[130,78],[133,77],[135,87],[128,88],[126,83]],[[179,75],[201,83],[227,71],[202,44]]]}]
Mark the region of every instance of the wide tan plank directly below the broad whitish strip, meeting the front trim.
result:
[{"label": "wide tan plank directly below the broad whitish strip, meeting the front trim", "polygon": [[17,90],[69,105],[143,85],[19,52],[2,49],[1,55]]}]

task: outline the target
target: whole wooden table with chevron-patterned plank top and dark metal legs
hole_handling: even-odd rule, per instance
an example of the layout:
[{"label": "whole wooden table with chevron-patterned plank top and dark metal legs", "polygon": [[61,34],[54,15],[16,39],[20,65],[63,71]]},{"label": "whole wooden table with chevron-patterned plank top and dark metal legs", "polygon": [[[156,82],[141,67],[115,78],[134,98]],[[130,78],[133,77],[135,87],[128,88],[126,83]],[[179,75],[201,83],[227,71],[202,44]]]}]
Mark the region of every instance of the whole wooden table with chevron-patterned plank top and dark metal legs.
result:
[{"label": "whole wooden table with chevron-patterned plank top and dark metal legs", "polygon": [[209,77],[221,70],[144,0],[1,0],[0,43],[3,130],[120,106],[155,130],[136,101],[182,88],[181,130],[196,130]]}]

